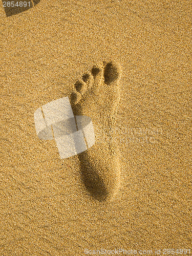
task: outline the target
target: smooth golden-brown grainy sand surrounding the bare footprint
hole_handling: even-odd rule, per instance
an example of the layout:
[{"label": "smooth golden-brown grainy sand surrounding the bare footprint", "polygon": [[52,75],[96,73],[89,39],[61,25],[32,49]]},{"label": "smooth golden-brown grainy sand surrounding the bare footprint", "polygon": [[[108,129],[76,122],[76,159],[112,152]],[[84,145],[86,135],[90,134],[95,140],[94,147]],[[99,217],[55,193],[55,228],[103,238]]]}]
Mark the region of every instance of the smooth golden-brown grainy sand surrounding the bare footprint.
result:
[{"label": "smooth golden-brown grainy sand surrounding the bare footprint", "polygon": [[[0,4],[0,255],[190,255],[189,1],[41,0],[11,16]],[[111,136],[117,157],[94,145],[89,161],[116,167],[108,166],[109,179],[99,170],[107,191],[117,172],[119,183],[113,200],[98,200],[82,179],[82,159],[60,159],[54,140],[38,139],[33,115],[111,60],[122,73]],[[105,113],[108,80],[101,84]]]}]

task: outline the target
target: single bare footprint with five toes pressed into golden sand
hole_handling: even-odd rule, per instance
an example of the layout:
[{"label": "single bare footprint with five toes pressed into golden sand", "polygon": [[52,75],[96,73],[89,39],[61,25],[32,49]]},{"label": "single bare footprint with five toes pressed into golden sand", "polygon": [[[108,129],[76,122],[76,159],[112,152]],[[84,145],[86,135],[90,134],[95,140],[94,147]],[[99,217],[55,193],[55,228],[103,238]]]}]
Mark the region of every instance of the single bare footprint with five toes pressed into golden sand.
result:
[{"label": "single bare footprint with five toes pressed into golden sand", "polygon": [[120,100],[121,68],[114,61],[94,66],[75,83],[70,100],[74,115],[91,117],[96,142],[78,154],[85,187],[98,201],[111,201],[120,186],[120,162],[111,131]]}]

